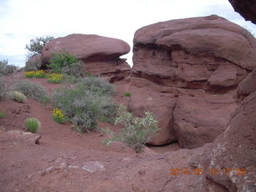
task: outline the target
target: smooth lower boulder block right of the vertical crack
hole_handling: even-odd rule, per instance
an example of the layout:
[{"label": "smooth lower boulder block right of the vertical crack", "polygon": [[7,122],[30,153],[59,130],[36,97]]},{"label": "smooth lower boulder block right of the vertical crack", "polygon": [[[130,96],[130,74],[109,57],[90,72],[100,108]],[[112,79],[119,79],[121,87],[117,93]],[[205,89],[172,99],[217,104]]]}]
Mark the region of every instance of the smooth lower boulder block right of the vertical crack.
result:
[{"label": "smooth lower boulder block right of the vertical crack", "polygon": [[232,94],[183,92],[178,96],[173,121],[179,144],[192,149],[214,142],[226,130],[230,114],[237,107]]}]

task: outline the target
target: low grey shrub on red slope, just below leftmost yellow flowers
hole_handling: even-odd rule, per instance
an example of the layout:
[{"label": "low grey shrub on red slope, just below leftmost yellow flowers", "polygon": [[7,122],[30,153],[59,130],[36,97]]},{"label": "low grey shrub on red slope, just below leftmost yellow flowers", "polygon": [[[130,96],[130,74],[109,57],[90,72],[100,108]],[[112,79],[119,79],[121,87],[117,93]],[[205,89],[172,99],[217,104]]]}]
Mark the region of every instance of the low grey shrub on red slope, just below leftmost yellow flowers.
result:
[{"label": "low grey shrub on red slope, just below leftmost yellow flowers", "polygon": [[46,90],[36,83],[22,80],[15,85],[15,90],[22,92],[26,97],[33,98],[38,102],[50,102],[50,98],[48,97]]}]

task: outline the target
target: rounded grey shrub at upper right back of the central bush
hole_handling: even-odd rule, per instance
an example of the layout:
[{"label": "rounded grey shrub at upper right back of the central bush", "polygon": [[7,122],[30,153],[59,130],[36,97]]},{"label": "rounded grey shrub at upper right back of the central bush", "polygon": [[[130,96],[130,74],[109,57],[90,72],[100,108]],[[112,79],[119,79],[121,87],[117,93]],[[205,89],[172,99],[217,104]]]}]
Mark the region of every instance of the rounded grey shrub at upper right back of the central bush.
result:
[{"label": "rounded grey shrub at upper right back of the central bush", "polygon": [[86,86],[86,90],[90,90],[95,94],[108,96],[112,96],[114,94],[114,87],[103,78],[89,76],[82,78],[80,82]]}]

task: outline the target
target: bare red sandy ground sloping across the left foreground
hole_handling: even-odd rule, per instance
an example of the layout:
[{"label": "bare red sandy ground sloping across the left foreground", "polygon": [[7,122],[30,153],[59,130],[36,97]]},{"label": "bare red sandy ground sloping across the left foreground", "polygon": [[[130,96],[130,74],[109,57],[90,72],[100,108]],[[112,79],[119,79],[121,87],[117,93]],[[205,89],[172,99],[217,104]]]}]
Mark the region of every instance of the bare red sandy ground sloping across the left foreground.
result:
[{"label": "bare red sandy ground sloping across the left foreground", "polygon": [[[6,81],[22,78],[22,72],[19,72],[6,77]],[[46,79],[30,81],[45,86],[49,92],[58,87],[47,83]],[[122,96],[126,87],[122,82],[116,86],[115,100],[128,102]],[[90,184],[107,183],[111,173],[122,172],[127,158],[132,159],[129,163],[137,164],[141,158],[150,158],[155,152],[180,149],[178,144],[173,144],[146,148],[144,154],[135,154],[122,143],[106,147],[102,144],[106,135],[97,132],[78,134],[71,129],[70,123],[54,122],[52,106],[42,106],[30,98],[25,103],[6,99],[0,102],[0,109],[6,110],[6,117],[0,119],[0,191],[98,191],[90,189]],[[38,134],[25,130],[24,122],[28,117],[38,118],[41,122],[39,145],[34,144]],[[114,131],[120,129],[106,122],[100,122],[98,126],[107,126]]]}]

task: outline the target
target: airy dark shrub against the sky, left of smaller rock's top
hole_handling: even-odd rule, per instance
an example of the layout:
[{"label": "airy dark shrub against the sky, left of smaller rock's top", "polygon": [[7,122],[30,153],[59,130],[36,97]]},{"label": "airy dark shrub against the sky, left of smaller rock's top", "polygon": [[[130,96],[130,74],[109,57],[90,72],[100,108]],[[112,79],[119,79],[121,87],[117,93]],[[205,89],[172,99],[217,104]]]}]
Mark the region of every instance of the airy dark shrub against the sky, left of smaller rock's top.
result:
[{"label": "airy dark shrub against the sky, left of smaller rock's top", "polygon": [[53,39],[54,37],[50,36],[31,39],[30,44],[26,44],[26,50],[28,50],[27,58],[42,54],[42,48]]}]

